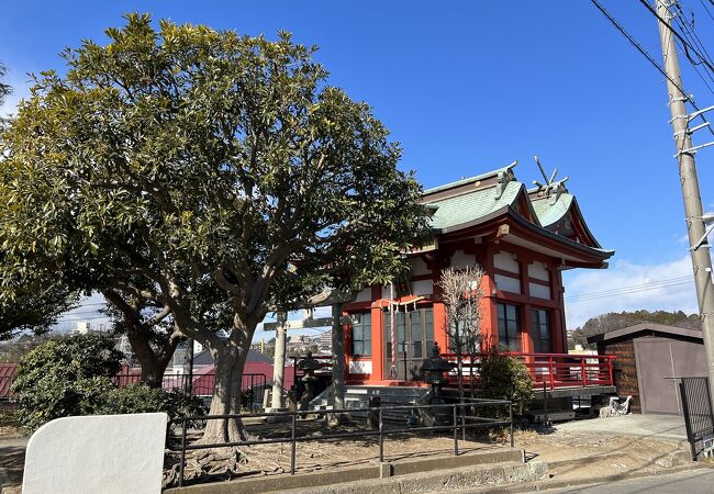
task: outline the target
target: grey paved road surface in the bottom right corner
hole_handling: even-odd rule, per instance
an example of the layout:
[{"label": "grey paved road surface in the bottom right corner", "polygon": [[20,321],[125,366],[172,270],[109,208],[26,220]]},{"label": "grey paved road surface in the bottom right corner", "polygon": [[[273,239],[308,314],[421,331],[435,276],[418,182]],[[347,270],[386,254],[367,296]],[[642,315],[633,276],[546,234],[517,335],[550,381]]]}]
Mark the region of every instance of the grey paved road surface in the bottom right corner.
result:
[{"label": "grey paved road surface in the bottom right corner", "polygon": [[551,489],[544,493],[583,494],[688,494],[714,492],[714,470],[698,469],[666,475],[643,476],[618,482]]}]

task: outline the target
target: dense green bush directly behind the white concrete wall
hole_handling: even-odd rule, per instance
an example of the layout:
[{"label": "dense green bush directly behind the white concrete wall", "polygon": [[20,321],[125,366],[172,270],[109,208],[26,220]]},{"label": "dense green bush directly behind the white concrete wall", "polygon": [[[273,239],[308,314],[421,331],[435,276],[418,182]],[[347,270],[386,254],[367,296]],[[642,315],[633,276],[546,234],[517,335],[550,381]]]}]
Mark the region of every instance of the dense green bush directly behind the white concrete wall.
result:
[{"label": "dense green bush directly behind the white concrete wall", "polygon": [[174,418],[203,415],[193,396],[143,384],[118,389],[111,378],[122,353],[111,338],[72,335],[38,346],[20,361],[12,384],[18,418],[26,434],[59,417],[165,412]]}]

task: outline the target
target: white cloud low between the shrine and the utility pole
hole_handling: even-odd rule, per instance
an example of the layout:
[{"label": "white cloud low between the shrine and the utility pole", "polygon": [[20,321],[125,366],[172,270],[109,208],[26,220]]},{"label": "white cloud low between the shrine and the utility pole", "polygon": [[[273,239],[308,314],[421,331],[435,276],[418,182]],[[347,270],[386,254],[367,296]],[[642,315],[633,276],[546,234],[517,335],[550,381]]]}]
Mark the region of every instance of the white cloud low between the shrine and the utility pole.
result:
[{"label": "white cloud low between the shrine and the utility pole", "polygon": [[[685,280],[687,277],[690,280]],[[667,285],[651,284],[662,280],[676,281]],[[590,317],[607,312],[639,308],[683,311],[687,314],[699,312],[689,255],[658,265],[639,265],[623,259],[606,270],[567,274],[564,284],[566,316],[570,329],[582,326]],[[621,291],[613,296],[595,295],[617,289]],[[588,294],[593,295],[583,299]]]}]

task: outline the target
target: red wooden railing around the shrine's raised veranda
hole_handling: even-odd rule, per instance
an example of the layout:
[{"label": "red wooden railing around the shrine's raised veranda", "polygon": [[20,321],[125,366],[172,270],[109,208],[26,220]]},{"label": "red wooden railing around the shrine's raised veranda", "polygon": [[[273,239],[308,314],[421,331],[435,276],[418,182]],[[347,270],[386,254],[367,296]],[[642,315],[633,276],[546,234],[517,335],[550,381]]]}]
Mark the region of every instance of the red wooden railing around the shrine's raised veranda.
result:
[{"label": "red wooden railing around the shrine's raised veranda", "polygon": [[[507,352],[511,357],[521,360],[528,369],[534,388],[547,390],[559,388],[611,386],[613,385],[613,360],[610,355],[569,355],[569,353],[525,353]],[[456,362],[456,353],[443,355],[451,362]],[[478,375],[480,366],[479,356],[475,362],[475,375]],[[468,381],[471,362],[468,356],[462,358],[464,377]],[[450,381],[456,383],[456,372]]]}]

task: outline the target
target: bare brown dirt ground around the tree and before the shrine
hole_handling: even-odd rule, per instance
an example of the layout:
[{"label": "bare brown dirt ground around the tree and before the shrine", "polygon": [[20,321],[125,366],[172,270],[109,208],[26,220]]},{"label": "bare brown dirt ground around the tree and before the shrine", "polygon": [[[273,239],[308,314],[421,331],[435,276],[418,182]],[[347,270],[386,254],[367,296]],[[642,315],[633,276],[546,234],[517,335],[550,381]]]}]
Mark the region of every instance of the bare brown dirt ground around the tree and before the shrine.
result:
[{"label": "bare brown dirt ground around the tree and before the shrine", "polygon": [[[360,426],[359,429],[362,429]],[[362,465],[379,459],[377,436],[361,438],[320,439],[335,433],[350,433],[356,426],[331,429],[321,420],[299,423],[298,436],[314,440],[298,442],[297,472],[315,472],[323,469]],[[252,435],[263,438],[289,437],[286,424],[252,425]],[[198,436],[193,436],[194,438]],[[557,428],[516,430],[515,447],[526,451],[527,461],[548,463],[554,480],[596,479],[618,473],[657,473],[689,462],[689,447],[684,441],[644,438],[602,431],[570,431]],[[22,483],[25,439],[20,437],[12,418],[0,415],[0,490],[15,492],[11,486]],[[503,448],[507,434],[478,437],[459,434],[459,452],[484,451]],[[239,465],[238,474],[216,471],[203,480],[235,479],[236,476],[275,475],[290,471],[290,444],[253,446],[246,452],[249,461]],[[454,454],[451,433],[400,434],[384,439],[384,460],[399,462],[405,459],[445,457]],[[177,457],[167,459],[167,468],[176,464]],[[188,470],[187,470],[187,473]],[[187,475],[190,476],[190,475]],[[189,480],[189,479],[187,479]],[[187,483],[191,483],[190,481]],[[10,489],[9,489],[10,487]],[[18,490],[19,492],[19,490]]]}]

